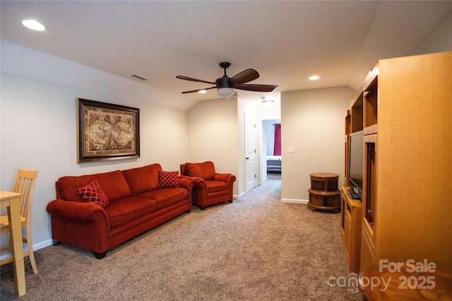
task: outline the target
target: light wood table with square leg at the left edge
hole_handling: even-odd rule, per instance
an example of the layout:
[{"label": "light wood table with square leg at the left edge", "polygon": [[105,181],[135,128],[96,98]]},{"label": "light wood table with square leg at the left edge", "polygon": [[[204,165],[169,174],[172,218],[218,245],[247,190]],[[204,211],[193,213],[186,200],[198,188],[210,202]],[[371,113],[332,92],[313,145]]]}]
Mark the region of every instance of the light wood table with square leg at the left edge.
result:
[{"label": "light wood table with square leg at the left edge", "polygon": [[20,196],[16,192],[0,191],[1,206],[8,206],[10,235],[13,238],[13,266],[19,297],[25,295],[25,268],[23,264],[22,227],[20,226]]}]

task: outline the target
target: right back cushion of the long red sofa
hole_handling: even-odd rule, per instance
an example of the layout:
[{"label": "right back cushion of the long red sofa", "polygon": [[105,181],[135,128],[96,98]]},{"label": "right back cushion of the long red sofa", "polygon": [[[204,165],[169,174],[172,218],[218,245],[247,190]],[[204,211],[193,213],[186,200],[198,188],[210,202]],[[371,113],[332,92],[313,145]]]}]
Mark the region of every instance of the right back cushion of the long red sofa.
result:
[{"label": "right back cushion of the long red sofa", "polygon": [[131,195],[135,196],[145,191],[157,189],[159,170],[162,170],[160,164],[151,164],[132,168],[131,170],[123,170],[122,174],[129,184]]}]

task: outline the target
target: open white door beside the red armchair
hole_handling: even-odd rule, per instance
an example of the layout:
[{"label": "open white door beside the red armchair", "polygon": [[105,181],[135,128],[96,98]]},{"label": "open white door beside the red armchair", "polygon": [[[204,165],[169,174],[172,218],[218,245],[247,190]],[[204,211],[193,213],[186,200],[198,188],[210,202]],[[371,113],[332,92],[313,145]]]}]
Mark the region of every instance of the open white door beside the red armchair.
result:
[{"label": "open white door beside the red armchair", "polygon": [[245,115],[245,191],[256,187],[256,163],[256,120],[254,117]]}]

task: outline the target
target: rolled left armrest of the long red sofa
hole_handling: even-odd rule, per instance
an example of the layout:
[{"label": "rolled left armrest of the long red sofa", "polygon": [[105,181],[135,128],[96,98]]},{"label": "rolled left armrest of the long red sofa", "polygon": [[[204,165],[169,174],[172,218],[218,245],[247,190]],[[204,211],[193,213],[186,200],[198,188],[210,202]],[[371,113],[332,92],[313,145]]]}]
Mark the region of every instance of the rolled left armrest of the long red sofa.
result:
[{"label": "rolled left armrest of the long red sofa", "polygon": [[71,220],[76,223],[102,222],[109,230],[107,212],[95,203],[64,201],[57,199],[47,204],[47,212],[54,217]]}]

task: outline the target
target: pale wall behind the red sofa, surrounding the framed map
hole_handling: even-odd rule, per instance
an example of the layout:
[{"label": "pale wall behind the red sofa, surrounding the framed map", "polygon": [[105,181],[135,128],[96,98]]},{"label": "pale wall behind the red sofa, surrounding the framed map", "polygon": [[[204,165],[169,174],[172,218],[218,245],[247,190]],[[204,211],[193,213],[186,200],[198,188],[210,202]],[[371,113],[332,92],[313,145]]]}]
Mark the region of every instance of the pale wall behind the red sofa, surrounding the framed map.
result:
[{"label": "pale wall behind the red sofa, surrounding the framed map", "polygon": [[[3,51],[3,48],[2,48]],[[3,57],[2,57],[3,61]],[[45,73],[45,72],[43,72]],[[102,78],[102,80],[108,80]],[[127,85],[126,81],[124,85]],[[189,160],[187,112],[114,95],[1,73],[1,190],[14,187],[20,168],[40,170],[32,210],[35,249],[52,243],[47,203],[64,175],[87,175],[160,163],[179,170]],[[76,98],[140,109],[141,157],[105,163],[76,163]],[[2,215],[4,208],[1,211]],[[1,235],[1,245],[7,235]]]}]

